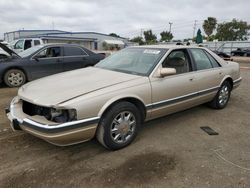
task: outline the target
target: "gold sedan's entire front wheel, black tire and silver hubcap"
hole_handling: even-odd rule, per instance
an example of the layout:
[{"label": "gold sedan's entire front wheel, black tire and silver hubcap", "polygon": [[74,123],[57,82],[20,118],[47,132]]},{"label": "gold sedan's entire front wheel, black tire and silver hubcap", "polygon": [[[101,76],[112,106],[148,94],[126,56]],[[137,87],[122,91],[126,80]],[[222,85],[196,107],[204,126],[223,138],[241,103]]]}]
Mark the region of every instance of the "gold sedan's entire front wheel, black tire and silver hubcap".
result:
[{"label": "gold sedan's entire front wheel, black tire and silver hubcap", "polygon": [[135,139],[140,124],[141,116],[137,107],[130,102],[119,102],[101,118],[96,137],[104,147],[118,150]]}]

